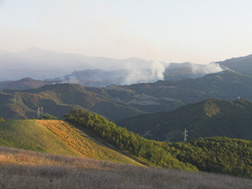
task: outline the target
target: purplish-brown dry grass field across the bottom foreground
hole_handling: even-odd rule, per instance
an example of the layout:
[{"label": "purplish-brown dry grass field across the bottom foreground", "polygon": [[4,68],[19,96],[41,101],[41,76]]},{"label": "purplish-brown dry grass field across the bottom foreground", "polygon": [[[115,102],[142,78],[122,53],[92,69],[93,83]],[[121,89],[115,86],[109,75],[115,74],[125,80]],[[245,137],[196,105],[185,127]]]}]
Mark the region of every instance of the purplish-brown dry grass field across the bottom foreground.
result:
[{"label": "purplish-brown dry grass field across the bottom foreground", "polygon": [[0,147],[0,188],[252,188],[252,180]]}]

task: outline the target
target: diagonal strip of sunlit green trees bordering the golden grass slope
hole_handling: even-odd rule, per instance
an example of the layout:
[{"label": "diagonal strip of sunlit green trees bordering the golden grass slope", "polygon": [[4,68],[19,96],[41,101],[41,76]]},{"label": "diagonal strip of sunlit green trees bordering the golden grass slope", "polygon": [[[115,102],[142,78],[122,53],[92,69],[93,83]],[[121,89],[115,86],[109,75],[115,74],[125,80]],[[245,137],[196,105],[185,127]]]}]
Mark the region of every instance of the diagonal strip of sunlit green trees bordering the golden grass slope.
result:
[{"label": "diagonal strip of sunlit green trees bordering the golden grass slope", "polygon": [[[147,140],[125,128],[117,127],[104,117],[83,110],[73,110],[65,116],[66,120],[88,128],[107,142],[144,160],[149,165],[194,170],[197,168],[174,158],[168,151],[159,147],[155,141]],[[80,127],[80,128],[81,128]],[[147,160],[147,161],[146,161]]]}]

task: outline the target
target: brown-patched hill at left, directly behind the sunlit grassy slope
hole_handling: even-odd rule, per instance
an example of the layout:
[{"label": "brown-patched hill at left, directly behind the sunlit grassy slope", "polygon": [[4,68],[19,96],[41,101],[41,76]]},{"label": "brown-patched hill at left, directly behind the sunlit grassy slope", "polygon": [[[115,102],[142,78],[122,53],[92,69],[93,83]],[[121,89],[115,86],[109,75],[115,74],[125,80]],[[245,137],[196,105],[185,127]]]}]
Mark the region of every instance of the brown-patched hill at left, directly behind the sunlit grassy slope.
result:
[{"label": "brown-patched hill at left, directly behind the sunlit grassy slope", "polygon": [[38,107],[43,107],[45,113],[56,117],[62,117],[73,108],[88,109],[109,119],[144,113],[77,84],[57,84],[39,89],[0,92],[0,115],[5,119],[36,118]]}]

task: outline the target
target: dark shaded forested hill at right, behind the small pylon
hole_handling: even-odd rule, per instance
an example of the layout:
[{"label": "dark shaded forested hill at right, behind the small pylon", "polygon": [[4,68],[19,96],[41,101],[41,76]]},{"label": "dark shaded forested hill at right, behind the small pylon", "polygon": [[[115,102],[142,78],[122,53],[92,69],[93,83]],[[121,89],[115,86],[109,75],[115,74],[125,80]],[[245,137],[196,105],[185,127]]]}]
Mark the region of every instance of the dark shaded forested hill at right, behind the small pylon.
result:
[{"label": "dark shaded forested hill at right, behind the small pylon", "polygon": [[211,99],[171,112],[129,117],[116,123],[146,138],[161,141],[183,141],[185,128],[189,140],[213,136],[252,140],[252,102]]}]

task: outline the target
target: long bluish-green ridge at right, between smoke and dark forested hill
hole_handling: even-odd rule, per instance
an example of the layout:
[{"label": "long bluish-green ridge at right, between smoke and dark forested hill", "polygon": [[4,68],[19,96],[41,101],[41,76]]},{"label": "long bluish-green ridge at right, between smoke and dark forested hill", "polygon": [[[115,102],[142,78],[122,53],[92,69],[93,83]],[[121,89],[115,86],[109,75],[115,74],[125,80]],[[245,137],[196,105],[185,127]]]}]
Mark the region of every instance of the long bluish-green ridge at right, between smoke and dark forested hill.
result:
[{"label": "long bluish-green ridge at right, between smoke and dark forested hill", "polygon": [[107,94],[124,104],[155,113],[175,110],[182,105],[210,98],[234,100],[241,96],[252,100],[252,77],[224,71],[197,79],[111,86],[105,89]]}]

